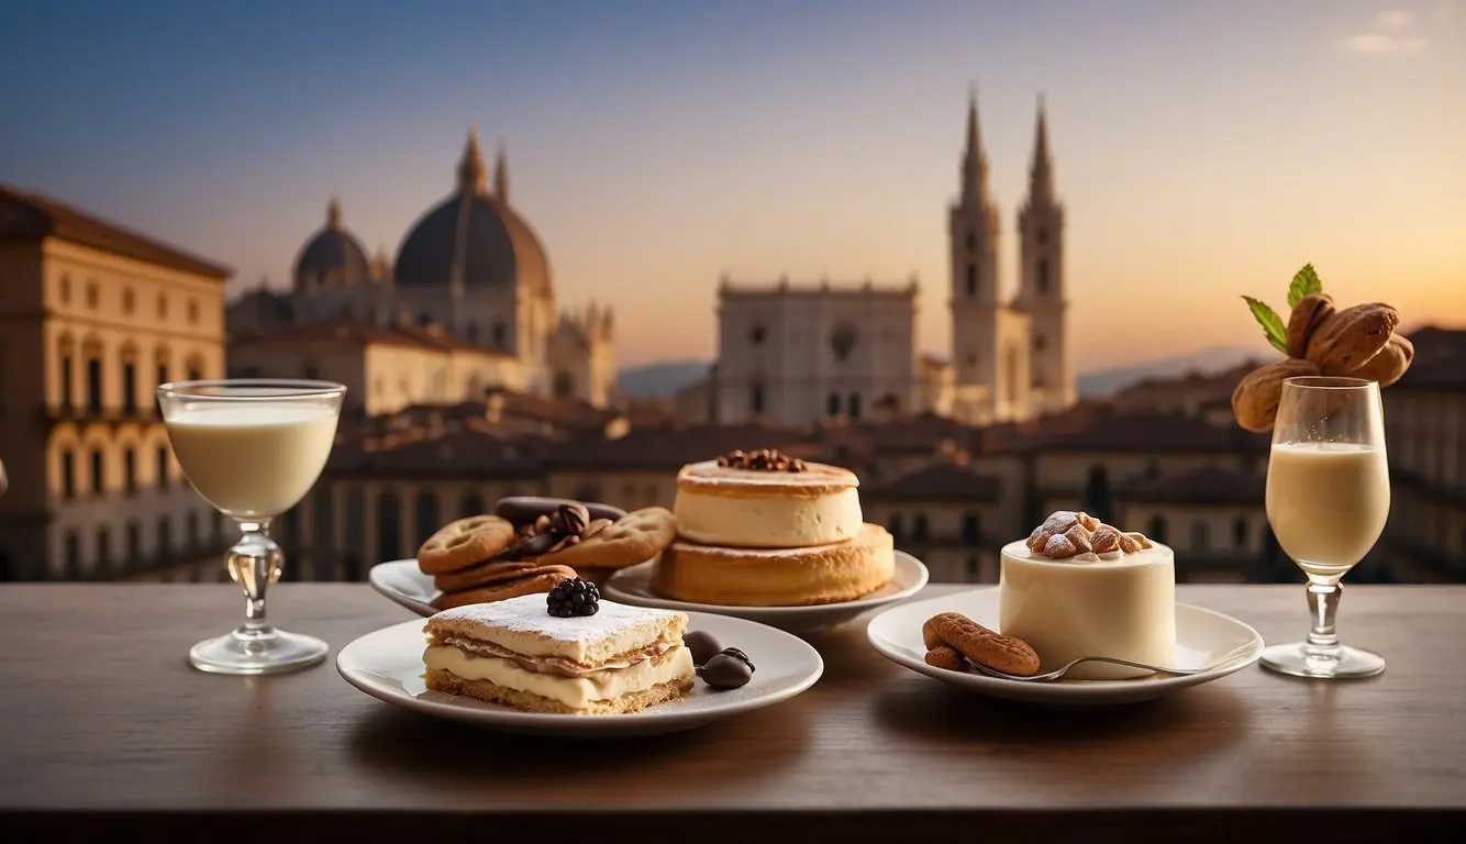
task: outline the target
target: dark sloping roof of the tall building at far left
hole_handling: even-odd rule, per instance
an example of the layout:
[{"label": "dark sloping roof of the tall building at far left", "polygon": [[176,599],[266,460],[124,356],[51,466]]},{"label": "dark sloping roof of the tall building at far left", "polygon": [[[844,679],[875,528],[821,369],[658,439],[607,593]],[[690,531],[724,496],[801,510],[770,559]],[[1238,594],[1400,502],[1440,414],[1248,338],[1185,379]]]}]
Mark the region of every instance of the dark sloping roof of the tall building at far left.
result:
[{"label": "dark sloping roof of the tall building at far left", "polygon": [[223,264],[132,232],[59,199],[0,185],[0,242],[41,242],[47,237],[210,278],[224,280],[235,274]]}]

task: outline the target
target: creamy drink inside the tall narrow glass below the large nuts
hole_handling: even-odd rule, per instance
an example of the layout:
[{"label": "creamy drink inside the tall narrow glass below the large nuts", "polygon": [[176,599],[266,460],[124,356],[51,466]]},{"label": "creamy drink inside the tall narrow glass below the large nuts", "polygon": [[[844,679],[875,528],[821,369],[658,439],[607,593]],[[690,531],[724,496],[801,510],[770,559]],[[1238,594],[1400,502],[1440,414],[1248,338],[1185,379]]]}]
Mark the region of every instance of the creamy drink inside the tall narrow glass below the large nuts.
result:
[{"label": "creamy drink inside the tall narrow glass below the large nuts", "polygon": [[1343,577],[1390,517],[1384,448],[1353,443],[1272,445],[1268,523],[1283,551],[1308,574]]}]

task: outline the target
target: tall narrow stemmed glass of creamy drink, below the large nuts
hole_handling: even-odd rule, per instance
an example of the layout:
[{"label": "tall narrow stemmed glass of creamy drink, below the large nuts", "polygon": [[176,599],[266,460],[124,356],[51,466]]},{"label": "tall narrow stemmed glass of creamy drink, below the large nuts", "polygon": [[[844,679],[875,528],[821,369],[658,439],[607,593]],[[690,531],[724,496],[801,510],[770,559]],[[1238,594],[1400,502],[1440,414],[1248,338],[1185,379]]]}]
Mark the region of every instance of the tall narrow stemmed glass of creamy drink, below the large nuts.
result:
[{"label": "tall narrow stemmed glass of creamy drink, below the large nuts", "polygon": [[1338,643],[1334,617],[1353,569],[1390,517],[1390,466],[1380,385],[1358,378],[1283,381],[1268,459],[1268,522],[1308,576],[1312,630],[1274,645],[1262,665],[1296,677],[1371,677],[1384,658]]}]

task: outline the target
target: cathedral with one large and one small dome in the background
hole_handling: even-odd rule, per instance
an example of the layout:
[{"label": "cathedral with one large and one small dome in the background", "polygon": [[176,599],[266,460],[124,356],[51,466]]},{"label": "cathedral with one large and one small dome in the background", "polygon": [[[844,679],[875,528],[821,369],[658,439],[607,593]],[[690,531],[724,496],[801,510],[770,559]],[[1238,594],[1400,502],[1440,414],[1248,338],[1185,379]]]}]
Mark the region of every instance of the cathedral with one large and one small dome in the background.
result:
[{"label": "cathedral with one large and one small dome in the background", "polygon": [[611,306],[557,308],[548,253],[510,205],[504,151],[490,179],[472,130],[454,189],[418,218],[396,259],[368,258],[331,201],[325,226],[296,258],[292,289],[261,287],[229,309],[230,336],[257,341],[259,333],[323,322],[438,327],[513,358],[516,382],[500,387],[594,406],[616,400]]}]

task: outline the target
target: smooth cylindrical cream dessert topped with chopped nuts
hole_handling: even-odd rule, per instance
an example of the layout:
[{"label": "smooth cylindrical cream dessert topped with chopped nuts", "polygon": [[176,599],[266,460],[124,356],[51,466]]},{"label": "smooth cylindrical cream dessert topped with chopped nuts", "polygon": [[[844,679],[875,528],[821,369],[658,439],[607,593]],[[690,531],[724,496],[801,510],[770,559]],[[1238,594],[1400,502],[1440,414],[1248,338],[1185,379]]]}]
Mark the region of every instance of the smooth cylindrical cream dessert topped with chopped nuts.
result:
[{"label": "smooth cylindrical cream dessert topped with chopped nuts", "polygon": [[[1057,511],[1026,541],[1003,547],[998,627],[1038,652],[1041,671],[1079,656],[1171,665],[1176,557],[1141,533],[1086,513]],[[1146,671],[1085,664],[1070,675],[1123,680]]]}]

